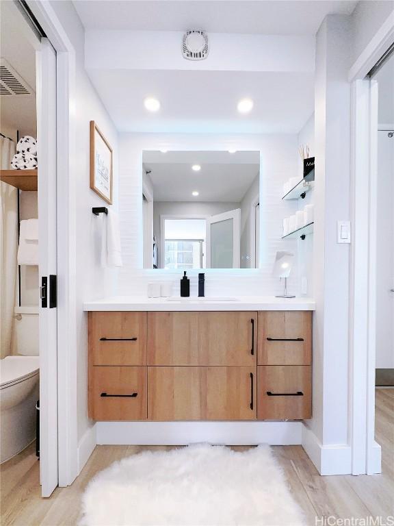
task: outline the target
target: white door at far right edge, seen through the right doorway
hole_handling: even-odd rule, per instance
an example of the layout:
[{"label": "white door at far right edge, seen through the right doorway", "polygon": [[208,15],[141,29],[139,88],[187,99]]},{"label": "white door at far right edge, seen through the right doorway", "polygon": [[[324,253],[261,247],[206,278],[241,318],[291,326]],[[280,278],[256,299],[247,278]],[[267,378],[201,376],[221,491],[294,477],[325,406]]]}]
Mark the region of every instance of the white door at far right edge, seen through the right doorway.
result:
[{"label": "white door at far right edge, seen through the right doorway", "polygon": [[394,368],[394,137],[378,132],[376,368]]}]

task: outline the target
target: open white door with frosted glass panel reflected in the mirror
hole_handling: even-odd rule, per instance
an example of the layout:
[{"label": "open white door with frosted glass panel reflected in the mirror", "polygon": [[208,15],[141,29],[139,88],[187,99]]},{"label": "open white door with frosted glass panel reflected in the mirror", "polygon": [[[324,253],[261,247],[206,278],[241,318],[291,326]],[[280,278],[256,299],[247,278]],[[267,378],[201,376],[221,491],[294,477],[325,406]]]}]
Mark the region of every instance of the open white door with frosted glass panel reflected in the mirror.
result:
[{"label": "open white door with frosted glass panel reflected in the mirror", "polygon": [[207,268],[239,268],[241,209],[207,218]]}]

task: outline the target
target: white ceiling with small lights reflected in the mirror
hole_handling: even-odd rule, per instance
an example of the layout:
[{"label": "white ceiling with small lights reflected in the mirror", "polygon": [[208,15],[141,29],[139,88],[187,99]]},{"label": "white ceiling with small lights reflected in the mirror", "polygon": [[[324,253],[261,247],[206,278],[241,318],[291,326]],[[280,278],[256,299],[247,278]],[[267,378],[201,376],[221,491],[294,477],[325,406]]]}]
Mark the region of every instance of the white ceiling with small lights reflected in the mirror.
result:
[{"label": "white ceiling with small lights reflected in the mirror", "polygon": [[[147,152],[144,168],[150,170],[154,201],[215,201],[238,203],[259,175],[259,151]],[[201,170],[192,170],[200,164]],[[193,197],[192,192],[199,192]]]}]

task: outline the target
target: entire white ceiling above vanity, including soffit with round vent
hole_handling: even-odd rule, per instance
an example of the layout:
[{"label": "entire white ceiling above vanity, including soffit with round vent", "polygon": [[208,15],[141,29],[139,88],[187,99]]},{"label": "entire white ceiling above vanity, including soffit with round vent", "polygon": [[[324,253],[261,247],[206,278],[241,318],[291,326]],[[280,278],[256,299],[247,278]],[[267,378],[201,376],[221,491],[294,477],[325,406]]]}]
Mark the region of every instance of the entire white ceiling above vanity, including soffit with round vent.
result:
[{"label": "entire white ceiling above vanity, including soffit with round vent", "polygon": [[[350,14],[356,3],[77,0],[74,5],[87,29],[88,74],[120,132],[296,134],[314,109],[313,36],[327,14]],[[191,27],[211,34],[207,60],[181,58],[177,32]],[[308,38],[311,52],[298,51],[301,39]],[[159,99],[159,112],[146,111],[148,96]],[[248,115],[237,112],[244,97],[254,101]]]}]

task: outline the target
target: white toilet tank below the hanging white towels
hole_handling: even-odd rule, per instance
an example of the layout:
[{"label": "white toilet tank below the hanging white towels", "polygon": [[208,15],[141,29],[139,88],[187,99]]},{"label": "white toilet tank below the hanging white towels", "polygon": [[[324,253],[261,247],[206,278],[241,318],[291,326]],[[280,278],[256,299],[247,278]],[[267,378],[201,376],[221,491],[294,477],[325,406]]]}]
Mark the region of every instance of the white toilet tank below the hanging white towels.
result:
[{"label": "white toilet tank below the hanging white towels", "polygon": [[38,307],[16,307],[14,313],[13,353],[38,356]]}]

